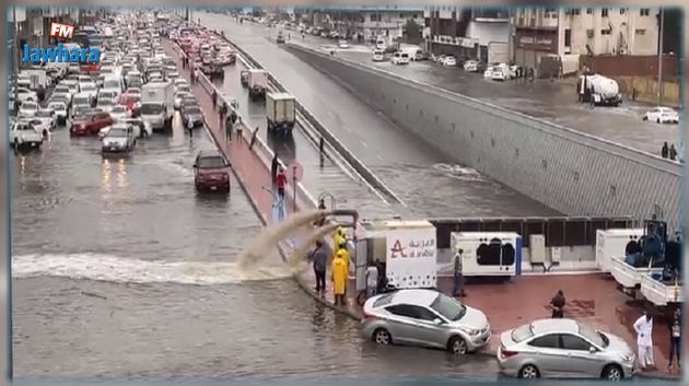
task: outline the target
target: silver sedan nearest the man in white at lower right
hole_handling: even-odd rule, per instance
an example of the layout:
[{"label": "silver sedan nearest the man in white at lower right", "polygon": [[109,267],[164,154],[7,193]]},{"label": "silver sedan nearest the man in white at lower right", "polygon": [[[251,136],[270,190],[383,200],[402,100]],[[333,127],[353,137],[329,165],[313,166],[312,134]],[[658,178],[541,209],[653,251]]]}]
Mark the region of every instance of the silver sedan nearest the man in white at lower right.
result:
[{"label": "silver sedan nearest the man in white at lower right", "polygon": [[621,338],[573,319],[542,319],[503,332],[498,364],[519,378],[596,377],[635,373],[635,356]]}]

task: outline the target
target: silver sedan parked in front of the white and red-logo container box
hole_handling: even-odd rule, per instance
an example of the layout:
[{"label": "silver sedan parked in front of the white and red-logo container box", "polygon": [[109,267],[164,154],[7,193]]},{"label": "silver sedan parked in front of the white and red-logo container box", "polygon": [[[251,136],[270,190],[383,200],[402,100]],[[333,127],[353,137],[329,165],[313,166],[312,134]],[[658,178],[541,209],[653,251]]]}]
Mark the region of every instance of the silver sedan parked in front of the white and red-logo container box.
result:
[{"label": "silver sedan parked in front of the white and red-logo container box", "polygon": [[363,306],[362,334],[378,344],[413,344],[466,354],[488,344],[486,315],[434,290],[399,290]]}]

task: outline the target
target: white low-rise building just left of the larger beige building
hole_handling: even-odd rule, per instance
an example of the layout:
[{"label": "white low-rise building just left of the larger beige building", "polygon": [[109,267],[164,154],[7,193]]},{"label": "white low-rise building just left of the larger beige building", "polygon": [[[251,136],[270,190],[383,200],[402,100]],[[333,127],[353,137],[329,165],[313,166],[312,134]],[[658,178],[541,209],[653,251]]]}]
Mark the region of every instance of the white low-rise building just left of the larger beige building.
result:
[{"label": "white low-rise building just left of the larger beige building", "polygon": [[462,59],[507,61],[507,9],[428,5],[424,9],[427,50]]}]

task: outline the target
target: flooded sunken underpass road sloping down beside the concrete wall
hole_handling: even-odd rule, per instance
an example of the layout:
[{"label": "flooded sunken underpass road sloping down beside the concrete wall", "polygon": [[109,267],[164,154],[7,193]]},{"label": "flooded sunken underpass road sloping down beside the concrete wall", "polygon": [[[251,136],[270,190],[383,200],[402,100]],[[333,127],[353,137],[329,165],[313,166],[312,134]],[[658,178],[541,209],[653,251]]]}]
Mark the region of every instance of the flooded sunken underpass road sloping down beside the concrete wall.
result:
[{"label": "flooded sunken underpass road sloping down beside the concrete wall", "polygon": [[[275,30],[248,23],[238,25],[229,15],[202,12],[196,15],[205,26],[224,32],[233,43],[271,72],[357,157],[401,197],[409,215],[557,214],[541,203],[481,176],[472,168],[448,163],[329,78],[269,42],[269,34],[275,34]],[[234,82],[238,85],[238,75]],[[295,147],[301,149],[302,144],[297,142]],[[324,190],[329,190],[329,186],[318,186],[317,190],[311,192],[317,196]],[[349,200],[357,192],[342,191],[342,196]]]}]

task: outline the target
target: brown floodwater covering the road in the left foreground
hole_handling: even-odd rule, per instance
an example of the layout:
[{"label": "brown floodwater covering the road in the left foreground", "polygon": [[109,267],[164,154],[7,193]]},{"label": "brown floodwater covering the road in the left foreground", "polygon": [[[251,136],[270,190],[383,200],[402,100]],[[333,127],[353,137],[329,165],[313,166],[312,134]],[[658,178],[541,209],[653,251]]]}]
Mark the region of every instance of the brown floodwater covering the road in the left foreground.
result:
[{"label": "brown floodwater covering the road in the left foreground", "polygon": [[[237,267],[260,222],[237,182],[197,195],[213,144],[172,134],[103,159],[57,129],[13,156],[13,371],[27,376],[483,376],[492,359],[381,348],[319,307],[277,255]],[[413,363],[413,365],[410,365]]]}]

